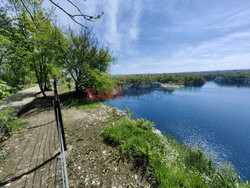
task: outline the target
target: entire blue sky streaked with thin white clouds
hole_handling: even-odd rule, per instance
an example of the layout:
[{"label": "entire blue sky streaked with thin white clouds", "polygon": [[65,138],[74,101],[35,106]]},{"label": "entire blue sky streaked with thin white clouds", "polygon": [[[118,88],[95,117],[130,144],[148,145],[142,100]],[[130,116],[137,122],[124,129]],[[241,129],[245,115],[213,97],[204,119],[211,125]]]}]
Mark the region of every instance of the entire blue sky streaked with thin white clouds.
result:
[{"label": "entire blue sky streaked with thin white clouds", "polygon": [[[118,58],[112,74],[250,69],[249,0],[74,2],[88,14],[104,11],[89,27]],[[56,14],[61,26],[79,28]]]}]

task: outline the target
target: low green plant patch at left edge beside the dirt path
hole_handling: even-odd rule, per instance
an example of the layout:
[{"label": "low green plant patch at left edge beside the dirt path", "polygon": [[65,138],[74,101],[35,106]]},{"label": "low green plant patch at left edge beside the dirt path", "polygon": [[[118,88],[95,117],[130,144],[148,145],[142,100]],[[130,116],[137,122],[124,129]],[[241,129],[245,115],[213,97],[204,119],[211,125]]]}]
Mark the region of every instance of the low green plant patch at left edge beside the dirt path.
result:
[{"label": "low green plant patch at left edge beside the dirt path", "polygon": [[26,125],[26,122],[15,119],[11,110],[0,111],[0,141],[3,141],[14,131],[20,130]]}]

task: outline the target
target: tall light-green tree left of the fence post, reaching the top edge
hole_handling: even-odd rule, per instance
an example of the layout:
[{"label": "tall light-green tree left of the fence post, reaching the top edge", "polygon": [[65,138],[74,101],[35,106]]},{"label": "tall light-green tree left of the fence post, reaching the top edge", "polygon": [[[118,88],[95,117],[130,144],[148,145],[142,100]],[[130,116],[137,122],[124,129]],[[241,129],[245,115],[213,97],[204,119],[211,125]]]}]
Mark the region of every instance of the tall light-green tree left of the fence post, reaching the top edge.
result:
[{"label": "tall light-green tree left of the fence post, reaching the top edge", "polygon": [[34,72],[41,93],[46,96],[45,91],[50,88],[49,79],[60,71],[58,40],[64,38],[63,33],[53,24],[53,11],[46,12],[42,8],[42,0],[11,2],[18,12],[18,28],[23,32],[24,42],[30,50],[26,56],[30,71]]}]

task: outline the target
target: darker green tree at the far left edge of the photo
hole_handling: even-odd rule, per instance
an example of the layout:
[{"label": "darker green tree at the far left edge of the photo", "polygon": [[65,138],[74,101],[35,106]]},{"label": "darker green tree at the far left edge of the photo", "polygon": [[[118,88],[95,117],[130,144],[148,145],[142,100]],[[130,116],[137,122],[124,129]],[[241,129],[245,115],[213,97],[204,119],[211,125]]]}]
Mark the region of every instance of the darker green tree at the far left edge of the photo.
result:
[{"label": "darker green tree at the far left edge of the photo", "polygon": [[8,85],[18,87],[27,83],[31,75],[27,62],[30,53],[27,33],[21,19],[16,19],[14,25],[4,11],[0,23],[0,76]]}]

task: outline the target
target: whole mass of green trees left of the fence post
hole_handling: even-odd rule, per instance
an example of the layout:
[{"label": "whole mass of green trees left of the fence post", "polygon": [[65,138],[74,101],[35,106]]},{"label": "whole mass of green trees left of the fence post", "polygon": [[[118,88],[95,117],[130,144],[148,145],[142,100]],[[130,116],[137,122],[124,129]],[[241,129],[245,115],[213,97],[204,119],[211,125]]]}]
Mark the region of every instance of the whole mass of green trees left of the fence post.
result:
[{"label": "whole mass of green trees left of the fence post", "polygon": [[[0,12],[0,78],[13,88],[37,81],[41,92],[49,90],[49,79],[60,72],[62,59],[59,40],[62,31],[53,25],[53,11],[45,10],[43,1],[10,1],[16,16]],[[28,13],[23,5],[29,7]],[[10,7],[11,7],[10,6]],[[31,16],[32,15],[32,16]]]}]

